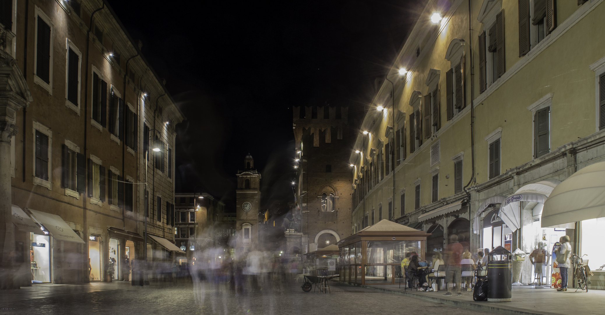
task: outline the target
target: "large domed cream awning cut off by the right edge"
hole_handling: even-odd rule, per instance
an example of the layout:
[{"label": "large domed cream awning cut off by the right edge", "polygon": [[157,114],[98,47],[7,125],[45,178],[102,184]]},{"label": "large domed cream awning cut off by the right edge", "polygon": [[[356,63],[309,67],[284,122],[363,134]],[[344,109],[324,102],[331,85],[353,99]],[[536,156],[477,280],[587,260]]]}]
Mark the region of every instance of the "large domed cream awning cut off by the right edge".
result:
[{"label": "large domed cream awning cut off by the right edge", "polygon": [[605,217],[605,162],[569,176],[551,193],[542,210],[542,227]]}]

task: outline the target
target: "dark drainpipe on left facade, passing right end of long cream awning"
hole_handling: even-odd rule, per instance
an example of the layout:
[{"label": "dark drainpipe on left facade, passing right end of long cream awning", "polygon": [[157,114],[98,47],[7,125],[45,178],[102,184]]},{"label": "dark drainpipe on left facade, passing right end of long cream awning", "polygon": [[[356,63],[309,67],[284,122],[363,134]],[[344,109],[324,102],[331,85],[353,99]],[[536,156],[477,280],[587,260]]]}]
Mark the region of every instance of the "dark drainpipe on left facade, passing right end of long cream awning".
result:
[{"label": "dark drainpipe on left facade, passing right end of long cream awning", "polygon": [[[86,76],[84,77],[84,99],[85,99],[85,106],[84,106],[84,158],[86,159],[87,156],[87,136],[88,136],[88,68],[90,68],[90,64],[88,62],[88,56],[90,53],[90,31],[93,28],[93,18],[94,15],[99,12],[100,10],[103,10],[103,8],[105,8],[105,2],[103,2],[102,7],[97,8],[97,10],[94,10],[93,13],[91,13],[90,15],[90,22],[88,24],[88,31],[86,33]],[[84,163],[84,174],[85,176],[88,176],[88,163]],[[88,181],[86,181],[88,183]],[[88,194],[88,188],[84,191],[84,193],[82,194],[82,236],[84,238],[84,240],[87,239],[86,234],[88,234],[88,220],[87,220],[87,194]],[[88,242],[84,242],[84,255],[85,257],[88,257]],[[84,259],[84,265],[83,265],[83,269],[82,270],[88,270],[88,262],[87,259]],[[82,280],[83,282],[90,282],[89,277],[85,277],[85,274],[82,274]]]}]

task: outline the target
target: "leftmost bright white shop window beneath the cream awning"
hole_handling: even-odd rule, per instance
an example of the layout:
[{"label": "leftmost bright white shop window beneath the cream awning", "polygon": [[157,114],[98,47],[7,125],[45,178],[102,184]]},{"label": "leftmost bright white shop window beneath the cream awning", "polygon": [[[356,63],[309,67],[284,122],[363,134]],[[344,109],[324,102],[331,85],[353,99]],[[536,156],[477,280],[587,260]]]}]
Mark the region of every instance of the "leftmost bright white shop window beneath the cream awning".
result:
[{"label": "leftmost bright white shop window beneath the cream awning", "polygon": [[49,283],[51,279],[50,236],[30,233],[31,283]]}]

